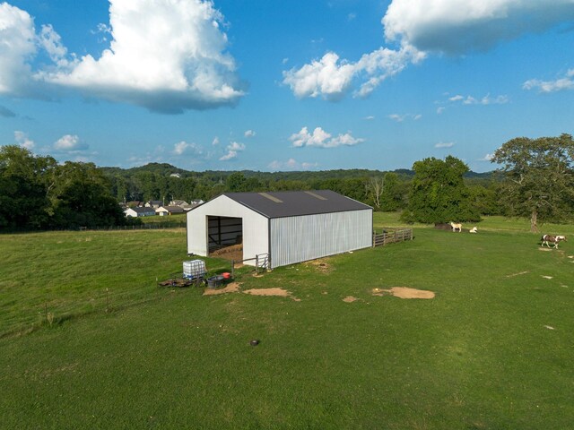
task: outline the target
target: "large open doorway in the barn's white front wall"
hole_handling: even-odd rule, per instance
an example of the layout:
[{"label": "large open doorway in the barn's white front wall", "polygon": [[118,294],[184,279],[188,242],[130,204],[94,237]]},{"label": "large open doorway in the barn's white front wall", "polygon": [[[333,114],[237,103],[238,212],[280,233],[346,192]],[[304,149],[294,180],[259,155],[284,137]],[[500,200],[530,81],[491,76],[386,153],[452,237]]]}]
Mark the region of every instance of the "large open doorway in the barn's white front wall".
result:
[{"label": "large open doorway in the barn's white front wall", "polygon": [[243,219],[207,217],[209,255],[229,260],[243,260]]}]

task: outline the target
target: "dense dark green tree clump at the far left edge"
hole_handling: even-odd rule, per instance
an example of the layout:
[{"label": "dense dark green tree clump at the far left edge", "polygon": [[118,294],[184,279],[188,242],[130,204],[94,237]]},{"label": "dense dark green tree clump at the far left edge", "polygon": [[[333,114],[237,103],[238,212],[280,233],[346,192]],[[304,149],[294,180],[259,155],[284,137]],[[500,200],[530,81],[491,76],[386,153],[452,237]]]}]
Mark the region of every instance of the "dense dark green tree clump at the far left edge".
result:
[{"label": "dense dark green tree clump at the far left edge", "polygon": [[124,225],[109,179],[92,163],[0,147],[0,228],[52,229]]}]

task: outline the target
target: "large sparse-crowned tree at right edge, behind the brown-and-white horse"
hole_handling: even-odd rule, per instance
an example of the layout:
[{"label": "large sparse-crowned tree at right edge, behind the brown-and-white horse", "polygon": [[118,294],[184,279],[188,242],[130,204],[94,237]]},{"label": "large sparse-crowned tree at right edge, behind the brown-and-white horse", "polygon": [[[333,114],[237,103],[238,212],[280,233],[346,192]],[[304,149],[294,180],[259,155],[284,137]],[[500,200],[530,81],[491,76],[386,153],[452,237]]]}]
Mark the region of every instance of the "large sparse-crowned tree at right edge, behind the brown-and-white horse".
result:
[{"label": "large sparse-crowned tree at right edge, behind the brown-and-white horse", "polygon": [[529,139],[517,137],[494,152],[491,161],[504,176],[502,202],[510,215],[538,222],[562,221],[572,216],[574,201],[574,141],[570,134]]}]

